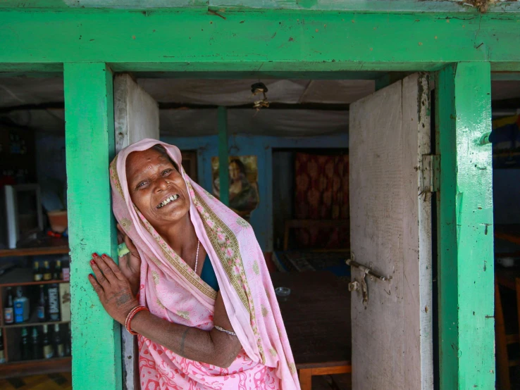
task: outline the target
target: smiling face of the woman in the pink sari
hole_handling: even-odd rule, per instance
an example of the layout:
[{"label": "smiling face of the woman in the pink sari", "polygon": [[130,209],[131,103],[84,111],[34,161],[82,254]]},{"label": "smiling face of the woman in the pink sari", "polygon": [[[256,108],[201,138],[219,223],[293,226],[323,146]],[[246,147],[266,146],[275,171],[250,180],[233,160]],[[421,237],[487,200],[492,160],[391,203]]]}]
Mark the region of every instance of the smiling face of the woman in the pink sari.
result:
[{"label": "smiling face of the woman in the pink sari", "polygon": [[156,229],[178,222],[190,210],[185,181],[159,151],[135,151],[126,159],[132,202]]}]

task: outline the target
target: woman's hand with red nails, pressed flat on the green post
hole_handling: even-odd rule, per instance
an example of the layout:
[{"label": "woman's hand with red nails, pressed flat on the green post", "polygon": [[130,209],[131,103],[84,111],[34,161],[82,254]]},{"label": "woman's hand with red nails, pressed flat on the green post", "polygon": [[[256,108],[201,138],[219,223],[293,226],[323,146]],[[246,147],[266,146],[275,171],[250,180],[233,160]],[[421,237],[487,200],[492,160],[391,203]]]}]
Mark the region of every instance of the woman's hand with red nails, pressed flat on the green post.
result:
[{"label": "woman's hand with red nails, pressed flat on the green post", "polygon": [[90,266],[96,277],[89,274],[89,281],[101,305],[114,320],[124,325],[130,310],[139,305],[132,294],[130,282],[109,256],[92,253]]}]

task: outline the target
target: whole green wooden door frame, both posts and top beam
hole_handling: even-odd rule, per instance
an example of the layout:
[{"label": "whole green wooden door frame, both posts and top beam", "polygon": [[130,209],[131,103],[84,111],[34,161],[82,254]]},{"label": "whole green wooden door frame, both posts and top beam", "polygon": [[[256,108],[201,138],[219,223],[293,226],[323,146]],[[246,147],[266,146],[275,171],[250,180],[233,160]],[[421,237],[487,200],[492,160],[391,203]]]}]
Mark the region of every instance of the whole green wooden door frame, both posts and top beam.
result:
[{"label": "whole green wooden door frame, both posts and top beam", "polygon": [[[121,386],[119,326],[86,277],[89,253],[115,253],[107,169],[111,71],[342,79],[361,70],[438,71],[441,388],[491,388],[491,148],[476,140],[490,130],[490,72],[520,71],[520,54],[511,49],[520,37],[519,15],[1,10],[0,42],[7,47],[0,51],[0,72],[64,74],[74,389]],[[500,73],[504,77],[509,74]]]}]

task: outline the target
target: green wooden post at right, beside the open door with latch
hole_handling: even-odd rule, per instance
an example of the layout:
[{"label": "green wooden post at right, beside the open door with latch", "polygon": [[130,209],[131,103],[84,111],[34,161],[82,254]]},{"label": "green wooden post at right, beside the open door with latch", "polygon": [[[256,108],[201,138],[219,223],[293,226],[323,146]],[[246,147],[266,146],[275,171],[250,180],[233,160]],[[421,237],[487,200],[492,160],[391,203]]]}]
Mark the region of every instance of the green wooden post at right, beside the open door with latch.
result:
[{"label": "green wooden post at right, beside the open door with latch", "polygon": [[490,77],[486,62],[438,74],[440,389],[495,388]]}]

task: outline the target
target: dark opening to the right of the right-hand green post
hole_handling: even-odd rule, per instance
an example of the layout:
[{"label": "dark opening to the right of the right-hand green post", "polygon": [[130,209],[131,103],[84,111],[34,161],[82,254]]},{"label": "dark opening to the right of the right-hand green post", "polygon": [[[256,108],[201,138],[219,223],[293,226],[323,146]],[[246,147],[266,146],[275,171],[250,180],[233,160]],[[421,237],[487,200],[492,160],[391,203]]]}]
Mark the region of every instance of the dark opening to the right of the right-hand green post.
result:
[{"label": "dark opening to the right of the right-hand green post", "polygon": [[[500,75],[497,75],[497,78]],[[493,216],[496,372],[500,389],[520,384],[520,82],[493,80]]]}]

